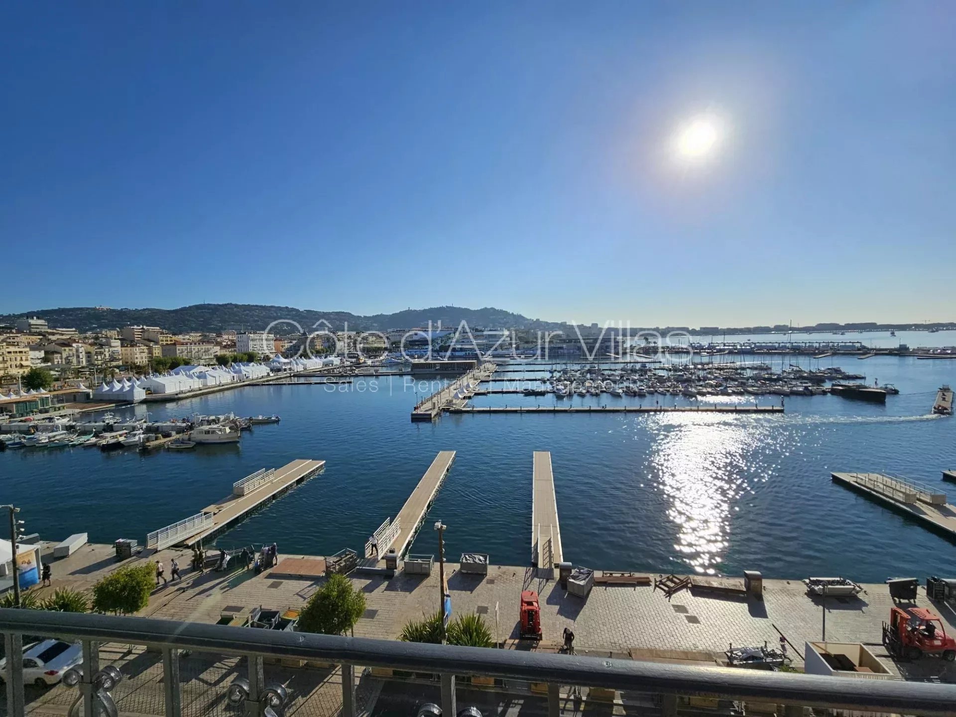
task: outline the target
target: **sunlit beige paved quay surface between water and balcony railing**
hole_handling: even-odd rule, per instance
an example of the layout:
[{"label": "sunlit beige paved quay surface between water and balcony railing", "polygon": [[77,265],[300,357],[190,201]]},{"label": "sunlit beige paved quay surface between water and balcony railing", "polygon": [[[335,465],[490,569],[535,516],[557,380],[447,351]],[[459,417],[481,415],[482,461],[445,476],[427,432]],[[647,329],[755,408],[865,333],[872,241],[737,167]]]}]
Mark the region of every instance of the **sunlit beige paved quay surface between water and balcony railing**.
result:
[{"label": "sunlit beige paved quay surface between water and balcony railing", "polygon": [[[50,544],[52,546],[52,544]],[[49,548],[52,551],[52,547]],[[281,551],[281,546],[280,546]],[[69,585],[88,589],[101,576],[124,564],[144,560],[163,560],[169,564],[176,557],[186,568],[189,552],[168,549],[158,554],[143,552],[132,560],[117,563],[113,547],[84,546],[68,558],[53,561],[54,581],[50,588],[34,589],[41,595],[56,587]],[[315,556],[281,554],[284,559],[311,559]],[[648,586],[596,586],[587,599],[568,595],[556,580],[540,579],[531,567],[489,566],[488,576],[462,574],[455,563],[446,564],[448,589],[454,615],[476,612],[485,615],[500,641],[511,649],[529,649],[528,643],[516,641],[518,596],[523,589],[537,590],[541,603],[541,624],[544,640],[539,650],[556,651],[564,627],[576,634],[576,653],[597,657],[654,660],[668,663],[717,665],[728,643],[735,646],[776,645],[778,633],[774,625],[802,653],[805,641],[817,641],[821,634],[824,607],[818,597],[809,597],[798,580],[765,579],[765,598],[759,601],[744,597],[717,597],[711,593],[684,590],[670,600]],[[393,578],[363,576],[353,573],[353,583],[365,594],[367,609],[356,626],[359,637],[395,640],[402,625],[409,619],[421,619],[435,611],[438,592],[438,571],[431,576],[411,576],[400,572]],[[252,571],[198,574],[184,570],[184,578],[158,588],[150,597],[141,615],[161,619],[216,622],[226,613],[243,616],[259,605],[267,608],[297,608],[315,592],[324,578],[291,578],[278,575],[275,569],[254,575]],[[826,604],[827,638],[830,641],[861,641],[877,654],[896,674],[911,679],[938,680],[956,683],[956,663],[926,658],[917,663],[894,663],[880,644],[880,627],[889,615],[893,600],[883,584],[867,584],[859,597],[828,597]],[[932,607],[945,621],[946,631],[956,633],[956,612],[942,603],[932,603],[921,588],[916,604]],[[126,679],[117,690],[120,712],[127,715],[163,714],[162,661],[159,653],[126,645],[106,645],[103,661],[120,666]],[[793,663],[802,667],[802,660],[793,655]],[[212,655],[189,655],[184,658],[184,715],[233,714],[226,705],[228,684],[244,666],[240,661]],[[356,670],[359,680],[359,708],[367,706],[371,714],[388,714],[388,700],[422,697],[433,686],[386,682]],[[293,668],[277,664],[266,666],[267,681],[288,682],[293,690],[293,704],[285,714],[334,715],[340,708],[340,676],[336,669]],[[359,677],[360,676],[360,677]],[[390,695],[375,708],[379,694]],[[27,688],[30,713],[64,715],[75,691],[57,686],[39,692]],[[585,691],[586,692],[586,691]],[[408,693],[408,694],[406,694]],[[546,710],[538,697],[526,694],[508,697],[498,695],[502,714],[508,705],[528,701],[531,712]],[[506,700],[505,698],[508,697]],[[625,703],[627,696],[623,695]],[[515,702],[516,701],[516,702]],[[607,706],[607,713],[611,714]],[[570,695],[562,701],[562,711],[574,714],[582,708],[579,699]],[[614,707],[623,713],[620,703]],[[589,711],[593,711],[589,707]]]}]

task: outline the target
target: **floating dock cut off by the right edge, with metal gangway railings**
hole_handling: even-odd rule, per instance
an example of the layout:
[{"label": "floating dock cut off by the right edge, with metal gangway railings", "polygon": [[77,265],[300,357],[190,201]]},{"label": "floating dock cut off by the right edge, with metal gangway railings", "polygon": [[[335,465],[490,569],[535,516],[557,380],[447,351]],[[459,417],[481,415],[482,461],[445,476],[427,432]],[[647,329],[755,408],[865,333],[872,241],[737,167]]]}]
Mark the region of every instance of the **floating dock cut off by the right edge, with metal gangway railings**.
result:
[{"label": "floating dock cut off by the right edge, with metal gangway railings", "polygon": [[923,527],[956,539],[956,507],[930,486],[884,473],[831,473],[831,478],[867,498],[908,515]]}]

